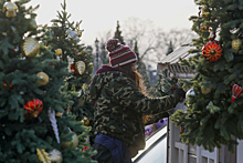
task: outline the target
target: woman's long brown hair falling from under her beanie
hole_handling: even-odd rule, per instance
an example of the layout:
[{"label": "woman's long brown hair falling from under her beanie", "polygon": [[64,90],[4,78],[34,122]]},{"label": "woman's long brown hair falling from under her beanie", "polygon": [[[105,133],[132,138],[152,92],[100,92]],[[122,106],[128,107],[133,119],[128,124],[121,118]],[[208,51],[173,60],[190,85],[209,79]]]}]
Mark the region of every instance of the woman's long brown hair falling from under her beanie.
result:
[{"label": "woman's long brown hair falling from under her beanie", "polygon": [[[142,94],[148,96],[141,74],[137,70],[133,70],[131,64],[125,64],[118,68],[122,69],[125,74],[127,74],[130,79],[135,81],[136,86]],[[142,115],[144,123],[146,124],[151,118],[152,115]]]}]

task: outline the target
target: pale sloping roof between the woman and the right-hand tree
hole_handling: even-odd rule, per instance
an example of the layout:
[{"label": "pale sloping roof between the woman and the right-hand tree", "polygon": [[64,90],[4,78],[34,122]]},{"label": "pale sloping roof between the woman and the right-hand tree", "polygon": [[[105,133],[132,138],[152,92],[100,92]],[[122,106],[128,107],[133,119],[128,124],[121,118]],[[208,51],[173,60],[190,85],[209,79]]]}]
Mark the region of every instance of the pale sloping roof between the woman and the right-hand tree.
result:
[{"label": "pale sloping roof between the woman and the right-hand tree", "polygon": [[179,62],[179,58],[189,59],[190,57],[194,55],[188,52],[191,49],[196,49],[192,45],[192,42],[182,44],[181,47],[176,49],[173,52],[171,52],[169,55],[166,55],[165,58],[162,58],[161,61],[158,61],[158,64],[175,64]]}]

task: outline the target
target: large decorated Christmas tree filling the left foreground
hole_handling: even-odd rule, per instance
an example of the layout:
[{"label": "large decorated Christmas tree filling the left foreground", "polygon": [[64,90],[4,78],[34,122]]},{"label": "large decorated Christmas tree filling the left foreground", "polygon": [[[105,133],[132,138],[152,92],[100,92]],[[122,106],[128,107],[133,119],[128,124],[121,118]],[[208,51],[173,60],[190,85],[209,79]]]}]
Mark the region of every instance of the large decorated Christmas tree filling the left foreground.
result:
[{"label": "large decorated Christmas tree filling the left foreground", "polygon": [[67,62],[45,45],[29,1],[0,0],[0,162],[94,162],[88,128],[64,112]]}]

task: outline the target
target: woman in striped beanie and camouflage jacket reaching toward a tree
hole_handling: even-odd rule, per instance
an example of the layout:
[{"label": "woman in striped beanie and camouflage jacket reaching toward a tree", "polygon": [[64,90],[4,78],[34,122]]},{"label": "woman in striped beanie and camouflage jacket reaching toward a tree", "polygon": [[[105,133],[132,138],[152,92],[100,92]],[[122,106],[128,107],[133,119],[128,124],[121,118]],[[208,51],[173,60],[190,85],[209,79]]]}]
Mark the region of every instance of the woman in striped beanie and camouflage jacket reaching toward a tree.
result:
[{"label": "woman in striped beanie and camouflage jacket reaching toward a tree", "polygon": [[154,122],[165,118],[184,99],[183,90],[173,95],[148,98],[142,92],[140,74],[135,68],[137,57],[119,40],[106,43],[109,65],[103,65],[92,79],[89,95],[95,102],[95,144],[99,163],[130,163],[145,147],[145,116],[157,115]]}]

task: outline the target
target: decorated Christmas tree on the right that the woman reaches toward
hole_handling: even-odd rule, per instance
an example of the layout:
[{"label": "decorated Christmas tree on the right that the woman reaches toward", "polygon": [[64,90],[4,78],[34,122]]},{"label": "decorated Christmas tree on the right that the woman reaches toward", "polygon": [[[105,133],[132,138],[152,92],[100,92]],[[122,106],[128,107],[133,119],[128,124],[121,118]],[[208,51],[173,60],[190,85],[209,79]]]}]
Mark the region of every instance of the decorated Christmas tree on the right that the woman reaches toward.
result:
[{"label": "decorated Christmas tree on the right that the woman reaches toward", "polygon": [[177,111],[172,121],[183,125],[181,140],[202,145],[205,150],[228,145],[234,152],[235,139],[243,139],[243,100],[241,98],[243,71],[243,1],[200,0],[192,30],[196,55],[182,61],[198,73],[184,82],[193,88],[188,96],[187,112]]}]

